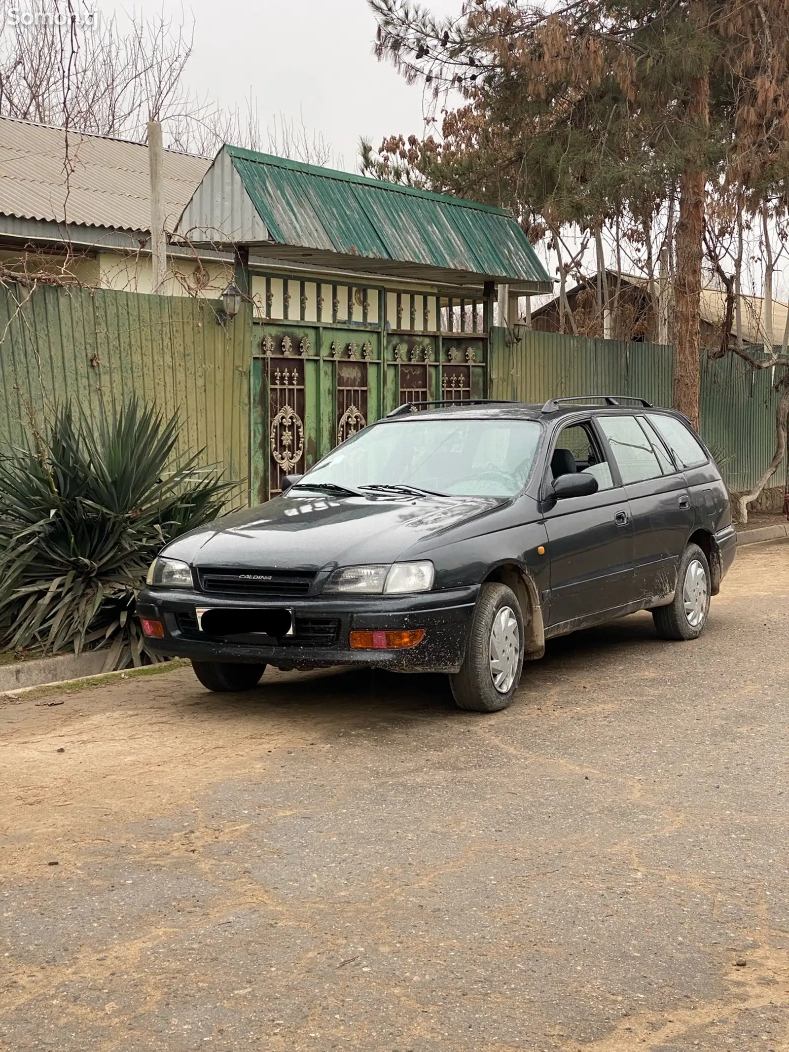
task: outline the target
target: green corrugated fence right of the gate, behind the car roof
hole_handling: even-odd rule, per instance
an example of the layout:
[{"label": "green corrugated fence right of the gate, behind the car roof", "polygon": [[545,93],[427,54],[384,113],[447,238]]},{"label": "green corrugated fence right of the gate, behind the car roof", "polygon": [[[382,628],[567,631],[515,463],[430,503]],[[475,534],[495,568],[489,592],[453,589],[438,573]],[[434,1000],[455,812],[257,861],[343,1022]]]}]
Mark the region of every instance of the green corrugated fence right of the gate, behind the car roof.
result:
[{"label": "green corrugated fence right of the gate, behind the car roof", "polygon": [[[729,488],[749,489],[775,448],[780,396],[772,389],[772,370],[754,372],[733,355],[702,355],[702,437]],[[564,394],[619,393],[661,406],[672,401],[673,348],[663,344],[531,330],[520,344],[508,346],[505,330],[495,328],[490,360],[492,398],[544,402]],[[785,478],[786,466],[770,485],[783,485]]]}]

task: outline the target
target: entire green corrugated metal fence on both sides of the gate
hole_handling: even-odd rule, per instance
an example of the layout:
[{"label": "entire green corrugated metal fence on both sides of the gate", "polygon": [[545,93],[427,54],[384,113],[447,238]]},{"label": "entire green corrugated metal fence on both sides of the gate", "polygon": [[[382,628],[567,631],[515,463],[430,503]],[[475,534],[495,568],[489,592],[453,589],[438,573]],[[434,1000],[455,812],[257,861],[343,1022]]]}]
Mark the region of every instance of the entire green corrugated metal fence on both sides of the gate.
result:
[{"label": "entire green corrugated metal fence on both sides of the gate", "polygon": [[[0,289],[0,446],[24,440],[27,421],[70,399],[88,413],[132,393],[181,420],[179,452],[205,449],[239,482],[248,501],[251,316],[242,306],[226,326],[218,304],[187,297],[18,285]],[[542,402],[562,394],[620,393],[670,405],[671,347],[529,331],[508,346],[493,330],[491,396]],[[705,357],[704,439],[732,490],[744,490],[769,463],[775,443],[771,370],[753,372],[727,356]],[[782,485],[786,468],[772,485]]]}]

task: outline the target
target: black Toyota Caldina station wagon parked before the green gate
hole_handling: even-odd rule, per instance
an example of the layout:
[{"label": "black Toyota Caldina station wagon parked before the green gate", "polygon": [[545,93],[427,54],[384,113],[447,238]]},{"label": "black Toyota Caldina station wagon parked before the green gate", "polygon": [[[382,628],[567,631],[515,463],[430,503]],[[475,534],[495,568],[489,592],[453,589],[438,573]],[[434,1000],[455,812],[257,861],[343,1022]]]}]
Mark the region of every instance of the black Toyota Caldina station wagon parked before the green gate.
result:
[{"label": "black Toyota Caldina station wagon parked before the green gate", "polygon": [[688,421],[622,397],[401,406],[286,482],[148,572],[147,647],[210,690],[366,665],[492,712],[554,635],[646,609],[699,636],[736,546]]}]

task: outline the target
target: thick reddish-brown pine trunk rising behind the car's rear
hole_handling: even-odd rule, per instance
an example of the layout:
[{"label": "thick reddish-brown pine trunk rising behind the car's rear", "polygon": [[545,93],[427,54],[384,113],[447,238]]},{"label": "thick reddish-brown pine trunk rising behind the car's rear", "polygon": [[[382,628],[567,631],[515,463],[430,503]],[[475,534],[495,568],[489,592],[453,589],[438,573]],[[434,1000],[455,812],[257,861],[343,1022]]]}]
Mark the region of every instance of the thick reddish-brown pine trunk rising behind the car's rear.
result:
[{"label": "thick reddish-brown pine trunk rising behind the car's rear", "polygon": [[[709,123],[709,77],[691,85],[688,120],[700,134]],[[676,224],[676,280],[674,294],[674,406],[699,427],[701,387],[702,241],[706,173],[689,158],[680,181],[680,221]]]}]

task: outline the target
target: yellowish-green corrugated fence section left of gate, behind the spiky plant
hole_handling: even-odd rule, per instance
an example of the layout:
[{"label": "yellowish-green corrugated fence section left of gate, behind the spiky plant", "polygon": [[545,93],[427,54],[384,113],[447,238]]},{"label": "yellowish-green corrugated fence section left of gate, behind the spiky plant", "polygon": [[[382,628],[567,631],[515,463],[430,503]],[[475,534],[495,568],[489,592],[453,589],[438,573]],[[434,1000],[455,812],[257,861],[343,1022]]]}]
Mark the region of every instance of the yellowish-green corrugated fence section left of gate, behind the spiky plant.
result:
[{"label": "yellowish-green corrugated fence section left of gate, behind the spiky plant", "polygon": [[0,447],[70,400],[88,416],[129,394],[178,411],[178,451],[205,449],[239,482],[249,472],[249,307],[227,326],[217,304],[173,296],[40,286],[0,289]]}]

